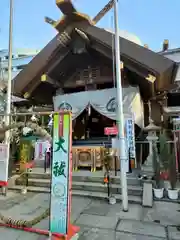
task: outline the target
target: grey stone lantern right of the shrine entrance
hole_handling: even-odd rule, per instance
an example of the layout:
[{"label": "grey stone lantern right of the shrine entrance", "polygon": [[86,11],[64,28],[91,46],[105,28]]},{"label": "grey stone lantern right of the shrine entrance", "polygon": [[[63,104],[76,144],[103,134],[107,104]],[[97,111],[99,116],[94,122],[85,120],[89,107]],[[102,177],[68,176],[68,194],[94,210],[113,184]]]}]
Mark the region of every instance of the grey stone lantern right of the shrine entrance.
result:
[{"label": "grey stone lantern right of the shrine entrance", "polygon": [[147,127],[144,128],[144,131],[148,133],[146,139],[149,142],[149,155],[144,163],[143,170],[145,174],[153,175],[153,142],[157,142],[158,136],[157,132],[160,131],[160,127],[156,126],[152,120]]}]

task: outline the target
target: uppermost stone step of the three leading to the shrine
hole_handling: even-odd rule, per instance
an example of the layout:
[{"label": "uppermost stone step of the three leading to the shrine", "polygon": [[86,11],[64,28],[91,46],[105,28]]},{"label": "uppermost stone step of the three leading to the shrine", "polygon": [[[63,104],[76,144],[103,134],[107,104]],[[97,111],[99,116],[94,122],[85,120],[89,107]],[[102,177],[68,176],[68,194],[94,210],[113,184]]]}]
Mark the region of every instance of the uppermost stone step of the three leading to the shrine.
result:
[{"label": "uppermost stone step of the three leading to the shrine", "polygon": [[[87,175],[85,175],[87,174]],[[50,179],[51,175],[49,173],[29,173],[30,179]],[[102,183],[104,179],[103,173],[92,174],[90,172],[81,173],[74,172],[72,175],[73,182],[99,182]],[[111,176],[112,183],[120,184],[120,176]],[[137,177],[127,175],[127,184],[128,185],[141,185],[141,180]]]}]

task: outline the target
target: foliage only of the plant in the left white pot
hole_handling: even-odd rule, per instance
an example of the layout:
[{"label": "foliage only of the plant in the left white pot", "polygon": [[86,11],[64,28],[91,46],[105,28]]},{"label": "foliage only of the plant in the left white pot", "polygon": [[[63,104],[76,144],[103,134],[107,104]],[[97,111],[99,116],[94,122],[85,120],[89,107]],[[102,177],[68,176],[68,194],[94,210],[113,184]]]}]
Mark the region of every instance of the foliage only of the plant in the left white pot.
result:
[{"label": "foliage only of the plant in the left white pot", "polygon": [[153,159],[155,187],[161,188],[161,176],[160,176],[161,168],[160,168],[160,161],[157,153],[156,143],[153,143],[152,150],[153,150],[152,159]]}]

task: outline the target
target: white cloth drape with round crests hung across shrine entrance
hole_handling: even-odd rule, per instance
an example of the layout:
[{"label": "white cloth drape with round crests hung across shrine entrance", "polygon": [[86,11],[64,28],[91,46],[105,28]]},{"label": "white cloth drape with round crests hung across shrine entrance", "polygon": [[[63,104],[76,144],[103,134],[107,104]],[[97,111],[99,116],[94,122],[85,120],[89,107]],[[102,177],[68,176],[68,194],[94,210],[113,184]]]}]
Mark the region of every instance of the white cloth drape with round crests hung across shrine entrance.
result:
[{"label": "white cloth drape with round crests hung across shrine entrance", "polygon": [[[88,104],[102,115],[113,120],[118,120],[116,114],[117,102],[115,88],[65,94],[54,97],[55,111],[58,109],[71,110],[73,119],[78,117]],[[133,115],[135,123],[143,128],[144,110],[138,87],[123,88],[123,109],[125,118],[131,118]]]}]

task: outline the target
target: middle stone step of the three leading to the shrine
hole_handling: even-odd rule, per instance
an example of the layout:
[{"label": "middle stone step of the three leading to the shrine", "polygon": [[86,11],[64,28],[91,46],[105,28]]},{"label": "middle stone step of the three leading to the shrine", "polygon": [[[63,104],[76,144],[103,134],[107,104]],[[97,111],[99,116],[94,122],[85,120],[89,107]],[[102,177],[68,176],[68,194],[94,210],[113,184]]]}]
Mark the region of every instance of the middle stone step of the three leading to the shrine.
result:
[{"label": "middle stone step of the three leading to the shrine", "polygon": [[[33,179],[30,178],[28,180],[29,186],[34,187],[43,187],[43,188],[50,188],[50,179]],[[16,180],[17,185],[22,185],[22,180],[19,178]],[[120,193],[121,194],[121,186],[120,184],[111,184],[111,193]],[[90,192],[104,192],[107,193],[107,185],[99,182],[72,182],[72,189],[73,190],[83,190],[83,191],[90,191]],[[133,186],[128,185],[128,194],[134,196],[142,196],[142,187],[141,186]]]}]

